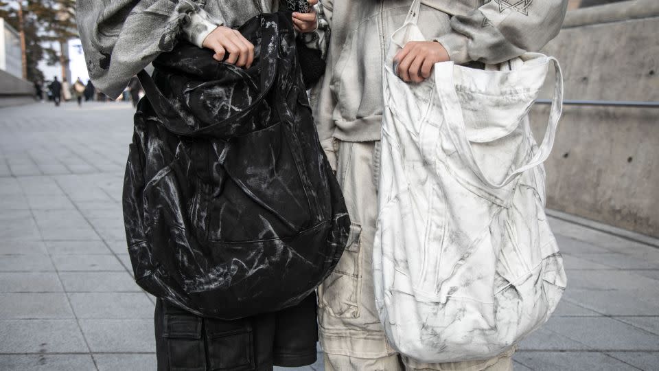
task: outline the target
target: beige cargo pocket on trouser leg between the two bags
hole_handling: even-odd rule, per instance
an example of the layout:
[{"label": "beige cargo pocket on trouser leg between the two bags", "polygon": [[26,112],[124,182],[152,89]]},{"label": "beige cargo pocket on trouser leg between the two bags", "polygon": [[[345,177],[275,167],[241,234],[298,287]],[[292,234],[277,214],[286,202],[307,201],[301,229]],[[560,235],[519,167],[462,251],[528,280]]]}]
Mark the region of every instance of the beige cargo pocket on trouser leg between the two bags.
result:
[{"label": "beige cargo pocket on trouser leg between the two bags", "polygon": [[360,234],[362,227],[351,223],[348,242],[343,256],[332,273],[319,287],[321,307],[334,317],[359,317],[362,277]]}]

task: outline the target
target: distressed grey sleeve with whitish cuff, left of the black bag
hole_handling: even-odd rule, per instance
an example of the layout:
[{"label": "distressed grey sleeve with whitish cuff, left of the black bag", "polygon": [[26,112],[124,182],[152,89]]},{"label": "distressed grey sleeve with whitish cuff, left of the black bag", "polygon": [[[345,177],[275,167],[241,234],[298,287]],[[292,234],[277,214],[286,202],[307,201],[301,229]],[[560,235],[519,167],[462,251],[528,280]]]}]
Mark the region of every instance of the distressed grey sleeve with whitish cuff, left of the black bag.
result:
[{"label": "distressed grey sleeve with whitish cuff, left of the black bag", "polygon": [[78,0],[76,19],[89,76],[115,98],[132,76],[178,38],[200,46],[222,23],[203,10],[205,0]]}]

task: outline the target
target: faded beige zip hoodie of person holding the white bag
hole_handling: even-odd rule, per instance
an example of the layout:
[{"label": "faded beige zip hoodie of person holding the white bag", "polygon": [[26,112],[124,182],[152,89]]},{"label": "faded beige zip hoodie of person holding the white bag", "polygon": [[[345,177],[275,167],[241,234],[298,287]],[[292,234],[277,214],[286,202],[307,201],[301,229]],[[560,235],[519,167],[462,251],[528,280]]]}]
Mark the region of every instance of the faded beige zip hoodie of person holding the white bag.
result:
[{"label": "faded beige zip hoodie of person holding the white bag", "polygon": [[[323,0],[332,27],[325,77],[312,91],[321,144],[380,140],[382,63],[412,0]],[[537,52],[561,30],[568,0],[423,0],[419,28],[456,64]]]}]

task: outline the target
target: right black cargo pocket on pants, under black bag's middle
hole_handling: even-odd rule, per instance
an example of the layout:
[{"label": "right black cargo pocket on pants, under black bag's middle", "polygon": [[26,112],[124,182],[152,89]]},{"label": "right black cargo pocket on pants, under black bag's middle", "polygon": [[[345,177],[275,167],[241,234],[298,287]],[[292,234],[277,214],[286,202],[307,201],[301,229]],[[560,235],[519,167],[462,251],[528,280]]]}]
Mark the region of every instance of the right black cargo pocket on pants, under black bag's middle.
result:
[{"label": "right black cargo pocket on pants, under black bag's middle", "polygon": [[242,320],[205,319],[209,370],[254,370],[252,327]]}]

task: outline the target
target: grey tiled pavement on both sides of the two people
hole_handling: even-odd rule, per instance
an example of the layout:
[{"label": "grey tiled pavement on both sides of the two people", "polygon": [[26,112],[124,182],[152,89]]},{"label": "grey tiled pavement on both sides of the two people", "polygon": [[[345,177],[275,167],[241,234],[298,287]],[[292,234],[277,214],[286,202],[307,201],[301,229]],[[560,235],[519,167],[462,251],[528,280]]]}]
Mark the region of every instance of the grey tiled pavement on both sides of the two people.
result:
[{"label": "grey tiled pavement on both sides of the two people", "polygon": [[[0,109],[0,370],[154,370],[122,225],[131,135],[123,103]],[[515,370],[659,370],[659,249],[551,223],[569,289]]]}]

